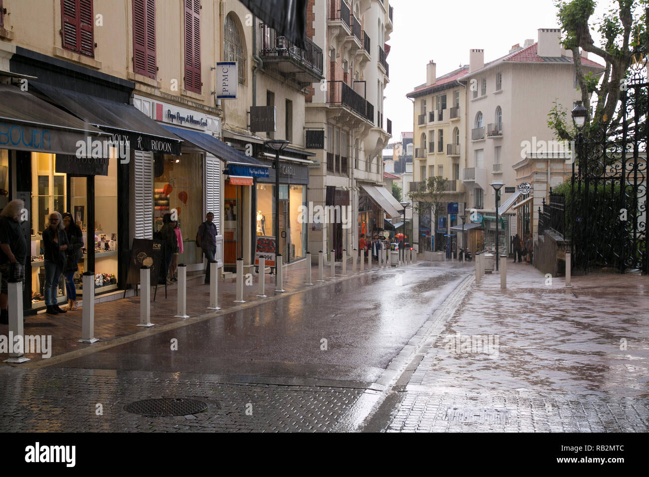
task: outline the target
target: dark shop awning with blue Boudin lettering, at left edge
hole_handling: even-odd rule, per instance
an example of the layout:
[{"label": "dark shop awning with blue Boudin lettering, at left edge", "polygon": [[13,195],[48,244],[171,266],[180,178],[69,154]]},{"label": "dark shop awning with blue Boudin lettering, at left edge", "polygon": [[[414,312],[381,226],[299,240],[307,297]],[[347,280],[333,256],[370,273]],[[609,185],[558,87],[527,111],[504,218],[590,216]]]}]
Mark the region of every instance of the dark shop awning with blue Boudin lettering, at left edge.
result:
[{"label": "dark shop awning with blue Boudin lettering, at left edge", "polygon": [[0,97],[0,149],[75,156],[77,141],[108,138],[103,131],[16,86],[0,84]]}]

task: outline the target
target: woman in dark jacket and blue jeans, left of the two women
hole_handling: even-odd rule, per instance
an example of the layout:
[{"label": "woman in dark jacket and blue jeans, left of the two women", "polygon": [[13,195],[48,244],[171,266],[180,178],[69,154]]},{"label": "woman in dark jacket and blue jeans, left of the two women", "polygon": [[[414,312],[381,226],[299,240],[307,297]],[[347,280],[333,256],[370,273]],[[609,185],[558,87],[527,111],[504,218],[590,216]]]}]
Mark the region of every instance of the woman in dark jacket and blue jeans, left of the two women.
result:
[{"label": "woman in dark jacket and blue jeans, left of the two women", "polygon": [[66,266],[66,250],[69,242],[63,230],[61,214],[52,212],[49,215],[49,226],[43,230],[43,247],[45,249],[45,305],[47,313],[58,315],[66,313],[56,303],[56,289],[61,273]]}]

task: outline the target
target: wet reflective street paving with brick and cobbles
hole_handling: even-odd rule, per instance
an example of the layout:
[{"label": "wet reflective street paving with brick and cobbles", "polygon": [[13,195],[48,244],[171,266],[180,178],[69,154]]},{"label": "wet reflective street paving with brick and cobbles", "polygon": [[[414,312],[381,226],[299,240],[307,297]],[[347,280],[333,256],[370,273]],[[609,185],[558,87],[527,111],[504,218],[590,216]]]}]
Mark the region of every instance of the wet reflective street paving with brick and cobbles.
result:
[{"label": "wet reflective street paving with brick and cobbles", "polygon": [[[0,430],[649,429],[646,277],[564,289],[510,265],[502,292],[498,275],[475,286],[471,265],[375,270],[53,365],[0,367]],[[124,409],[149,398],[207,408]]]}]

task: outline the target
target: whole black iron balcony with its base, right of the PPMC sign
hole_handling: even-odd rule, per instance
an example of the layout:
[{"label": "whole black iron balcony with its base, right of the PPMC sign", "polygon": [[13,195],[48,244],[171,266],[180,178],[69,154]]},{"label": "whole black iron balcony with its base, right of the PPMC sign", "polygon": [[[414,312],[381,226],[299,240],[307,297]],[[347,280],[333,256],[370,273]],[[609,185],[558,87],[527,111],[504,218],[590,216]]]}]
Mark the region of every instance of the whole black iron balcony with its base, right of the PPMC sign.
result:
[{"label": "whole black iron balcony with its base, right of the PPMC sign", "polygon": [[278,36],[275,29],[260,25],[259,55],[264,69],[275,71],[304,88],[323,78],[323,51],[321,47],[305,38],[306,49],[289,42],[286,36]]}]

